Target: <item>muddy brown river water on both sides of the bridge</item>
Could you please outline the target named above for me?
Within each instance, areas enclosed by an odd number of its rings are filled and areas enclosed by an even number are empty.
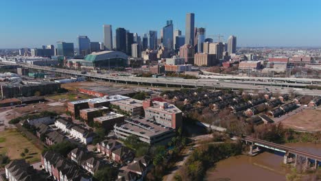
[[[321,144],[288,143],[305,152],[321,155]],[[283,155],[272,152],[263,152],[257,156],[235,156],[217,162],[215,167],[206,173],[209,181],[270,181],[286,180],[285,175],[289,169],[282,167]]]

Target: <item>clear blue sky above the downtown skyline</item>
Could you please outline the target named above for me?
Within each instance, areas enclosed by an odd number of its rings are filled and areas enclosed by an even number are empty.
[[[102,41],[102,25],[143,34],[166,20],[185,32],[185,14],[206,35],[238,46],[321,46],[320,0],[0,0],[0,48],[40,47],[78,35]]]

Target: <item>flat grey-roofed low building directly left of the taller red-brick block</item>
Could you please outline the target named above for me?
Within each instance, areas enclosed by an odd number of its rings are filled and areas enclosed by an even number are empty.
[[[128,112],[131,117],[139,117],[143,114],[143,101],[137,99],[123,99],[110,103],[119,106],[119,109]]]

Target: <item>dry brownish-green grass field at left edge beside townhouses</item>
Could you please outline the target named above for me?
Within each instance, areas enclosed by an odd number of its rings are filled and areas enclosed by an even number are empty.
[[[6,154],[11,160],[21,158],[24,149],[29,149],[25,159],[30,162],[40,161],[41,150],[15,129],[0,132],[0,154]]]

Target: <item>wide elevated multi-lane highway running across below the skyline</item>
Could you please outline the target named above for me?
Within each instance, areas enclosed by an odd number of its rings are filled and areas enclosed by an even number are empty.
[[[8,62],[0,62],[9,64]],[[321,90],[309,90],[305,87],[307,83],[281,83],[281,82],[262,82],[255,80],[219,80],[217,78],[200,78],[198,80],[185,80],[176,77],[154,78],[154,77],[134,77],[134,76],[117,76],[101,73],[82,73],[69,69],[58,69],[51,67],[36,66],[32,64],[19,63],[22,67],[62,73],[66,75],[85,76],[91,79],[119,82],[124,84],[147,84],[151,86],[189,86],[189,87],[212,87],[212,88],[232,88],[243,90],[263,90],[278,93],[298,93],[302,95],[321,95]],[[311,84],[311,83],[310,83]]]

